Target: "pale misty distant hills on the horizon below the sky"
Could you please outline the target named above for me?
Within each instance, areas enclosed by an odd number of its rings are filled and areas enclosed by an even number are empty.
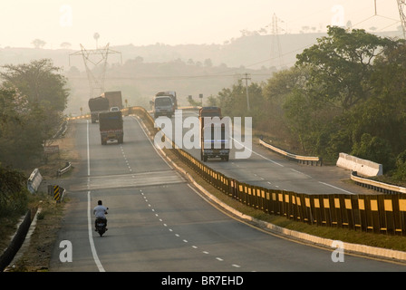
[[[264,82],[276,70],[291,67],[295,56],[325,34],[246,35],[223,44],[179,44],[114,46],[120,52],[109,55],[105,91],[121,90],[130,105],[148,106],[155,92],[174,90],[181,104],[188,104],[192,95],[204,98],[230,87],[243,73],[250,73],[251,82]],[[399,32],[380,34],[396,37]],[[86,49],[92,49],[86,47]],[[68,113],[88,111],[89,82],[82,57],[72,56],[69,49],[0,48],[0,65],[29,63],[50,58],[63,68],[72,93]],[[70,56],[71,55],[71,56]],[[121,63],[122,58],[122,63]]]

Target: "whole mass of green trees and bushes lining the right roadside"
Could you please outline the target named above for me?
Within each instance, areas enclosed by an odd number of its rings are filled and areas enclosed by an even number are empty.
[[[406,179],[406,44],[363,30],[329,27],[266,83],[223,89],[210,104],[253,117],[254,129],[335,161],[340,152],[383,164]]]

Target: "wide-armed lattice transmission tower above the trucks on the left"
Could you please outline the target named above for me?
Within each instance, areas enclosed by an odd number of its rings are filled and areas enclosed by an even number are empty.
[[[119,53],[109,48],[109,43],[103,48],[86,50],[81,44],[81,51],[69,56],[82,55],[90,86],[90,98],[100,96],[104,92],[104,77],[106,74],[107,58],[111,53]],[[121,54],[121,53],[120,53]],[[71,58],[69,58],[71,60]],[[122,58],[121,58],[122,63]]]

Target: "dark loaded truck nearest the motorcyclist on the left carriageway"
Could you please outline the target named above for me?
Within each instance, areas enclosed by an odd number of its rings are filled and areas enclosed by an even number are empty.
[[[99,114],[100,136],[102,145],[107,141],[117,140],[121,144],[124,140],[124,130],[121,111],[103,111]]]

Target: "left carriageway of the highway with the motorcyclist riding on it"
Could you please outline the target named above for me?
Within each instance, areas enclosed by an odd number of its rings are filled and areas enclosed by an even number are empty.
[[[343,262],[333,262],[332,251],[276,237],[232,218],[208,203],[160,157],[134,117],[124,118],[123,144],[102,146],[98,124],[82,120],[72,126],[81,164],[65,180],[69,201],[53,251],[53,272],[406,270],[345,252]],[[255,162],[263,171],[279,168],[272,162]],[[221,166],[237,172],[237,165],[247,163],[230,161]],[[249,172],[244,170],[237,174]],[[285,170],[292,174],[286,179],[302,175]],[[103,237],[94,231],[91,214],[99,199],[110,208],[109,230]],[[60,258],[63,247],[58,246],[63,241],[72,245],[72,262]]]

